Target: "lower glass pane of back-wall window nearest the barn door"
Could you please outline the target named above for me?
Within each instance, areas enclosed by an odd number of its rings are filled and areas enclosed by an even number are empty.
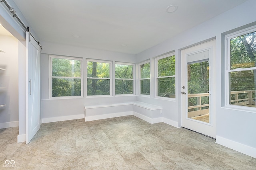
[[[81,96],[80,78],[52,78],[52,97]]]

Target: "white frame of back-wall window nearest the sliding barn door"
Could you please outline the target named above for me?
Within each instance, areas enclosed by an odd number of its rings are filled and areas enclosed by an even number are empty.
[[[68,59],[68,60],[79,60],[80,61],[80,77],[60,77],[60,76],[52,76],[52,59]],[[66,56],[57,56],[57,55],[49,55],[49,98],[50,99],[69,99],[69,98],[83,98],[84,96],[84,85],[83,85],[83,58],[78,57],[66,57]],[[81,79],[81,96],[57,96],[52,97],[52,78],[79,78]]]

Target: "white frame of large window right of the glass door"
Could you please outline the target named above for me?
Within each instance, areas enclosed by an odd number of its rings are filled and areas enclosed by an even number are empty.
[[[229,73],[230,72],[238,72],[238,71],[246,71],[246,70],[256,70],[256,67],[250,67],[250,68],[237,68],[237,69],[231,69],[231,59],[230,59],[230,39],[239,37],[241,35],[245,35],[251,32],[256,31],[256,26],[252,26],[246,29],[242,29],[240,31],[236,31],[234,33],[230,33],[228,35],[225,35],[225,107],[234,109],[234,110],[240,110],[240,111],[249,111],[256,113],[255,107],[245,107],[245,106],[238,106],[238,105],[232,105],[229,104],[230,102],[230,81],[229,81]]]

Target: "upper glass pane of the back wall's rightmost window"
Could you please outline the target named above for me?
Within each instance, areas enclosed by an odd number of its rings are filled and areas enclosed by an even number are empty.
[[[132,65],[116,64],[116,78],[131,78],[132,79]]]

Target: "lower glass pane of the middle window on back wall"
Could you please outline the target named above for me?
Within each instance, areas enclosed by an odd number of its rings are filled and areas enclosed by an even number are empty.
[[[87,95],[110,95],[110,79],[87,79]]]

